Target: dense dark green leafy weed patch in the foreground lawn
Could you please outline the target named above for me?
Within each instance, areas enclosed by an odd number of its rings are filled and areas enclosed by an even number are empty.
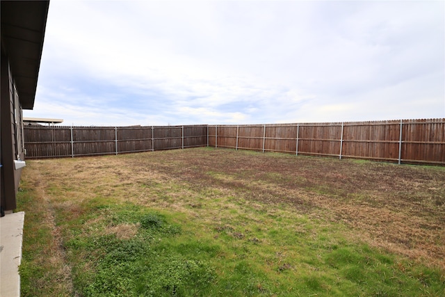
[[[168,227],[161,216],[142,216],[161,230]],[[153,223],[156,222],[156,223]],[[161,222],[159,224],[159,222]],[[142,223],[141,223],[142,225]],[[159,239],[158,237],[159,236]],[[165,237],[167,236],[167,237]],[[216,255],[218,247],[200,246],[190,241],[188,252],[179,253],[183,247],[171,247],[169,234],[157,233],[156,239],[140,234],[133,239],[119,240],[113,234],[100,236],[89,244],[76,247],[95,246],[95,267],[90,273],[84,272],[88,266],[88,256],[84,255],[83,264],[74,269],[76,288],[81,296],[195,296],[208,287],[216,274],[213,268],[202,259],[191,259],[188,255],[199,257],[195,251],[200,249],[205,257]],[[162,241],[161,241],[162,239]],[[166,241],[166,243],[164,243]],[[70,248],[74,247],[70,245]],[[199,247],[199,248],[198,248]],[[79,252],[79,251],[78,251]],[[209,255],[207,253],[209,252]],[[88,254],[88,253],[87,253]]]

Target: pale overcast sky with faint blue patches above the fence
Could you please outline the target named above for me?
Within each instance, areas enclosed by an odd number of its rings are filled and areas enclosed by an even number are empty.
[[[445,118],[445,1],[51,1],[64,125]]]

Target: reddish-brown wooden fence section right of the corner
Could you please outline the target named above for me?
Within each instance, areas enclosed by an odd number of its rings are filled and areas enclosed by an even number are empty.
[[[445,118],[280,125],[211,125],[209,146],[445,165]]]

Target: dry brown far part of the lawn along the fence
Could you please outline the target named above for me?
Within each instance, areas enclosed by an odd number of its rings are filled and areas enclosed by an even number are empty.
[[[194,195],[209,191],[209,199],[233,196],[252,207],[266,204],[267,211],[286,203],[296,216],[346,224],[353,239],[445,269],[444,168],[219,149],[29,164],[40,175],[32,179],[42,191],[55,184],[66,188],[67,196],[48,208],[67,209],[71,216],[81,214],[83,200],[97,196],[197,216],[196,209],[206,202]],[[51,211],[47,216],[53,224]],[[218,220],[217,212],[207,214],[209,223]],[[137,227],[116,225],[109,232],[127,238]],[[54,255],[63,263],[60,251]]]

